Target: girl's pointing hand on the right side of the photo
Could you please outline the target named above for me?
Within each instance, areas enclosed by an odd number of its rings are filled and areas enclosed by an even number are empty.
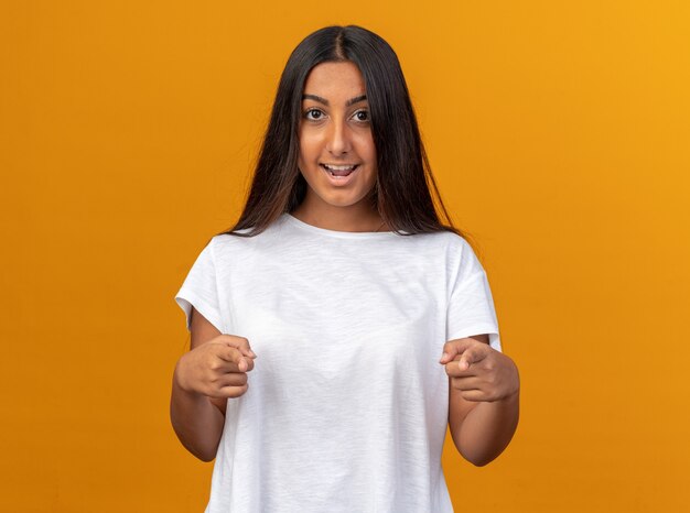
[[[515,362],[473,338],[445,342],[439,363],[445,365],[451,386],[460,390],[461,396],[467,401],[500,401],[520,390]]]

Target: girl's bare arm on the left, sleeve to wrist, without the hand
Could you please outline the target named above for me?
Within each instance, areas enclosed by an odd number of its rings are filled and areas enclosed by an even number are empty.
[[[206,318],[192,308],[192,347],[197,347],[220,335]],[[183,354],[175,365],[170,418],[177,438],[186,449],[203,461],[215,458],[223,435],[227,399],[216,399],[192,391],[186,382],[190,352]]]

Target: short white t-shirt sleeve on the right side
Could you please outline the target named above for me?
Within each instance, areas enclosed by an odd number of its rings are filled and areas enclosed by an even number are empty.
[[[464,239],[460,255],[453,260],[456,272],[449,299],[446,340],[488,334],[490,347],[500,351],[498,320],[484,268]]]

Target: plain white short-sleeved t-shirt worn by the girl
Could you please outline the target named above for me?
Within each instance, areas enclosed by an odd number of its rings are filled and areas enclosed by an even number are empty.
[[[488,334],[486,273],[452,232],[342,232],[283,214],[215,236],[175,296],[257,354],[228,400],[207,513],[452,512],[443,345]]]

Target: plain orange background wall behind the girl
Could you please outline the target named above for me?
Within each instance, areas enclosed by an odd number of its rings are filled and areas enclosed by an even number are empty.
[[[690,511],[690,8],[683,1],[32,1],[0,7],[0,511],[197,512],[173,296],[237,218],[292,48],[398,53],[479,241],[521,422],[457,511]]]

